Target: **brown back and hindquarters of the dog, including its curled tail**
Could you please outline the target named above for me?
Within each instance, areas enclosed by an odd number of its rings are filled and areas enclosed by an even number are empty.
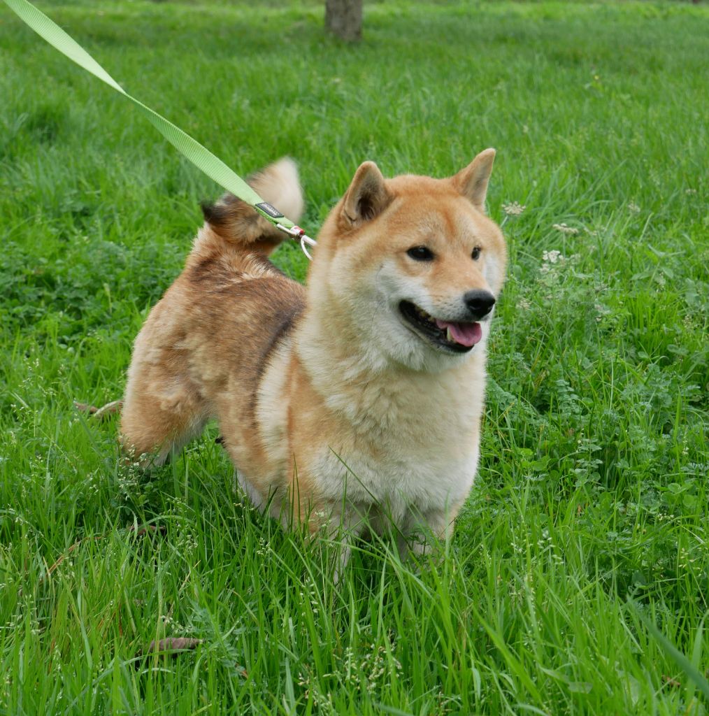
[[[249,183],[297,221],[303,200],[290,160]],[[141,462],[153,454],[162,463],[198,435],[219,412],[220,395],[238,395],[229,412],[248,431],[263,367],[304,307],[302,286],[266,258],[284,234],[232,195],[203,211],[185,269],[135,340],[121,435]],[[238,392],[229,390],[233,382]]]

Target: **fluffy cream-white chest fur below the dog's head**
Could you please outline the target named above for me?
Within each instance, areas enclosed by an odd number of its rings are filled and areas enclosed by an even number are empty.
[[[327,435],[313,470],[321,494],[337,500],[346,490],[348,501],[383,503],[395,518],[465,498],[480,449],[483,356],[439,374],[335,382],[325,400],[339,432]]]

